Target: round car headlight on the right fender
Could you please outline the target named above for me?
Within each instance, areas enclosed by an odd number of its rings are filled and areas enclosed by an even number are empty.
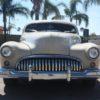
[[[88,50],[88,55],[89,55],[89,57],[92,58],[92,59],[98,58],[98,56],[99,56],[99,49],[98,49],[98,48],[95,48],[95,47],[90,48],[90,49]]]

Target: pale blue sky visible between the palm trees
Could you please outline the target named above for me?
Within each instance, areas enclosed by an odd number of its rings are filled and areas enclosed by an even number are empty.
[[[31,10],[32,3],[30,2],[30,0],[26,0],[26,1],[14,0],[14,2],[20,2],[22,5],[24,5],[25,7],[28,7]],[[51,1],[55,5],[57,5],[57,3],[59,3],[59,2],[65,2],[68,5],[68,2],[69,2],[69,0],[51,0]],[[60,9],[61,14],[64,15],[63,8],[59,7],[59,9]],[[87,28],[90,30],[90,34],[96,33],[97,35],[100,35],[100,32],[99,32],[100,31],[100,13],[99,13],[100,6],[95,6],[95,5],[90,6],[87,12],[82,9],[81,5],[78,5],[77,9],[80,12],[84,12],[89,16],[89,26]],[[48,20],[50,20],[50,19],[48,19]],[[65,18],[64,20],[66,22],[67,21],[69,22],[68,18]],[[12,29],[11,34],[17,34],[17,35],[22,34],[23,27],[31,21],[32,21],[32,19],[30,17],[25,18],[23,16],[16,15],[15,19],[11,20],[11,23],[14,23],[16,26],[15,29]],[[34,21],[34,19],[33,19],[33,21]],[[0,24],[1,24],[0,26],[3,25],[2,15],[0,16]],[[21,31],[19,31],[19,32],[17,31],[18,27],[21,27]],[[81,26],[78,26],[78,29],[80,30],[81,27],[85,27],[84,23],[82,23]],[[80,32],[80,35],[82,35],[81,32]]]

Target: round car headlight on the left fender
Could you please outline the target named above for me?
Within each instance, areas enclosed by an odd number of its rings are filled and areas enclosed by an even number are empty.
[[[1,48],[1,55],[4,57],[9,57],[12,55],[12,50],[8,46],[4,46]]]

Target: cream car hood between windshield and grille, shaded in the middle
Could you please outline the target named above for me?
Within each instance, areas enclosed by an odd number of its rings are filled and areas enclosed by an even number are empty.
[[[24,34],[22,42],[27,44],[32,54],[69,54],[71,38],[76,34],[58,32],[35,32]]]

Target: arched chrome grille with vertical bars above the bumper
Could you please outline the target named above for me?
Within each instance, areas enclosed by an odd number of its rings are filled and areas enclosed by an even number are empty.
[[[59,56],[59,55],[35,55],[21,59],[16,64],[16,70],[28,71],[32,66],[32,71],[82,71],[83,67],[80,60]]]

